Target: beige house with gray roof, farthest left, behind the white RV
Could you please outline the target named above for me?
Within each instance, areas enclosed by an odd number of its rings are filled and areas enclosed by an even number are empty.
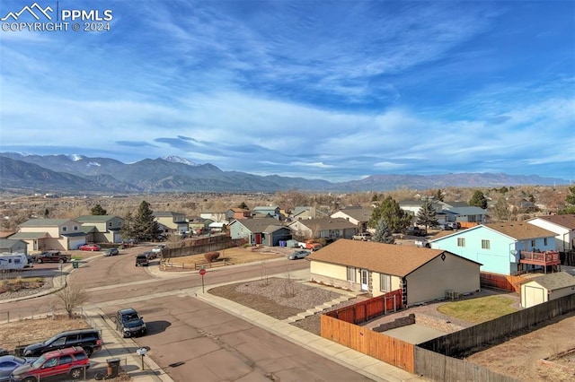
[[[86,242],[86,234],[79,221],[70,219],[30,219],[18,226],[10,239],[27,243],[28,253],[48,249],[76,249]]]

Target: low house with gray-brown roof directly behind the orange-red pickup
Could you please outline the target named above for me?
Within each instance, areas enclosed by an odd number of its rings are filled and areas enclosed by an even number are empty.
[[[306,239],[351,239],[358,231],[354,223],[343,218],[305,219],[293,221],[288,227]]]

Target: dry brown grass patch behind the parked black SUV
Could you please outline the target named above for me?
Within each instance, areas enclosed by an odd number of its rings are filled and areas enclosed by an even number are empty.
[[[39,343],[66,330],[90,327],[84,318],[36,318],[22,319],[2,324],[0,330],[0,348],[12,351],[16,346]]]

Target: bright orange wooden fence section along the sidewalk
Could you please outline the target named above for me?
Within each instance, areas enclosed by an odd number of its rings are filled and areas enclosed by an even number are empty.
[[[321,335],[377,360],[383,360],[410,373],[414,372],[414,346],[411,343],[326,314],[321,316]]]

